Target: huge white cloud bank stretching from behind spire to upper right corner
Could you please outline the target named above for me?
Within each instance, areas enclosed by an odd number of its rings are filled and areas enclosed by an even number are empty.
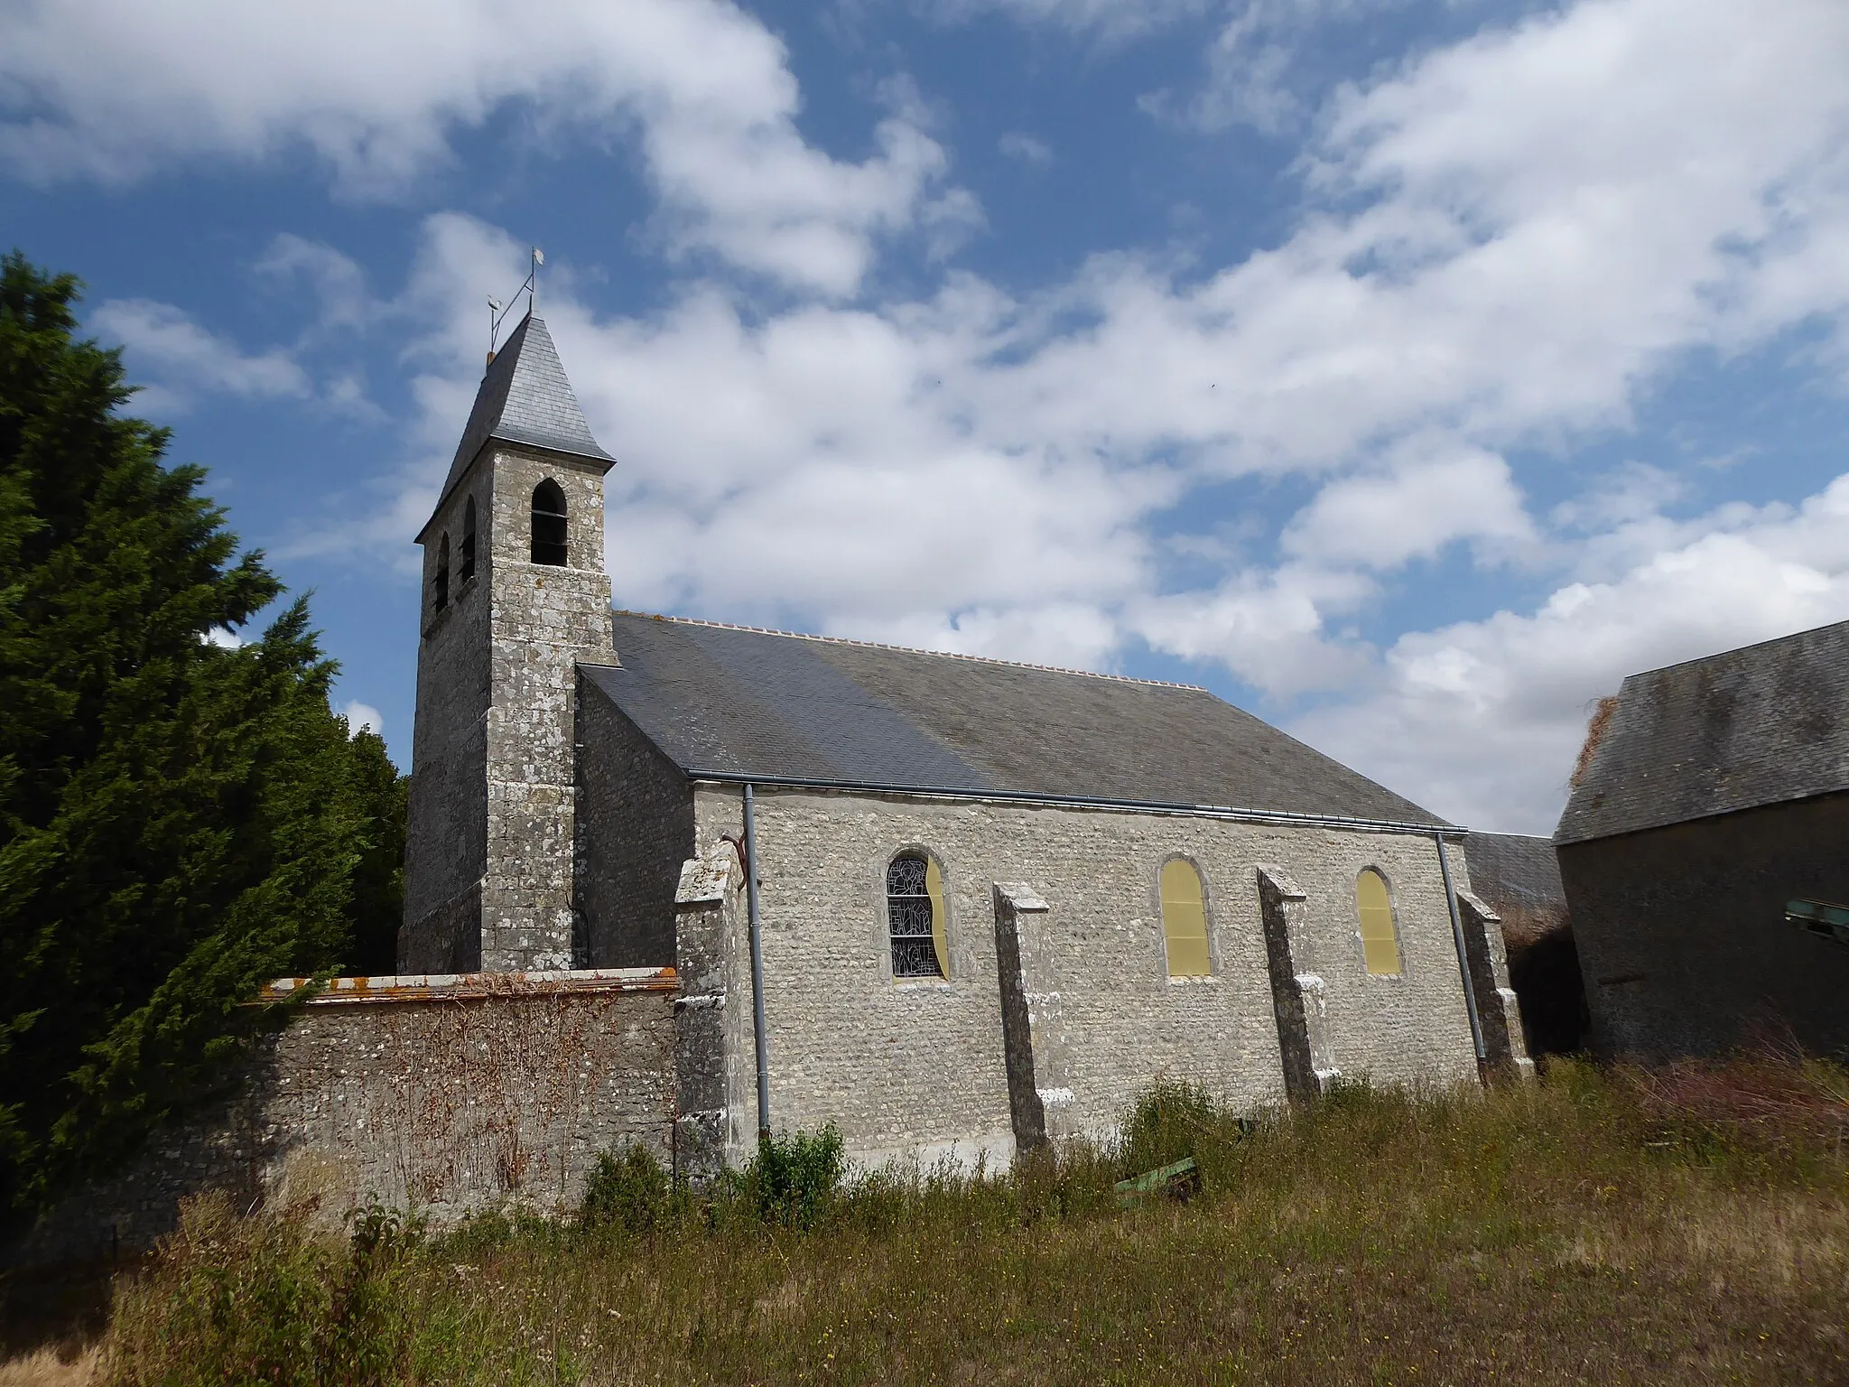
[[[1622,673],[1849,614],[1836,490],[1686,520],[1673,477],[1633,470],[1531,516],[1505,462],[1627,427],[1692,351],[1842,342],[1843,70],[1838,4],[1583,0],[1346,92],[1300,224],[1233,266],[1100,255],[1030,300],[952,272],[767,316],[690,279],[614,320],[564,266],[547,318],[621,459],[618,601],[1095,668],[1145,640],[1342,694],[1298,729],[1440,812],[1544,830]],[[520,253],[460,216],[425,237],[399,300],[429,325],[418,460],[377,507],[398,538],[479,375],[460,305]],[[1261,473],[1318,490],[1217,571],[1170,568],[1213,549],[1191,488]],[[1379,573],[1450,544],[1549,562],[1559,592],[1368,647]]]

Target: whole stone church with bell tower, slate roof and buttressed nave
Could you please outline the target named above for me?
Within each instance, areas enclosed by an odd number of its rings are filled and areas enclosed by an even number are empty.
[[[671,976],[734,1163],[1527,1067],[1463,829],[1202,688],[616,608],[612,466],[527,316],[418,534],[403,975]]]

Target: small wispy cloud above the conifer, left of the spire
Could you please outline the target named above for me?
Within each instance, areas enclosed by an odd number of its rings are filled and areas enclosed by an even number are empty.
[[[246,399],[303,399],[314,392],[307,372],[287,351],[246,355],[172,303],[105,300],[89,325],[128,350],[131,375],[157,381],[137,398],[141,409],[179,411],[198,390]]]

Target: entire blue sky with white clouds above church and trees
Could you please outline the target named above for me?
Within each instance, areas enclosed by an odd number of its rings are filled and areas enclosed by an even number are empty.
[[[1204,682],[1548,832],[1642,668],[1849,618],[1840,0],[0,0],[4,240],[409,762],[542,314],[618,603]]]

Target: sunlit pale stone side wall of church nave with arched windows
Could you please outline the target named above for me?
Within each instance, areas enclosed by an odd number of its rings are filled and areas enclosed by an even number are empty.
[[[703,847],[738,834],[740,792],[697,788],[695,819]],[[1261,864],[1304,891],[1292,965],[1320,984],[1333,1071],[1378,1082],[1477,1074],[1429,838],[791,790],[758,792],[756,836],[773,1124],[834,1121],[858,1160],[1011,1154],[997,882],[1048,904],[1019,927],[1048,1135],[1104,1135],[1157,1074],[1235,1104],[1283,1097]],[[943,871],[947,980],[891,978],[884,882],[904,849],[930,853]],[[1167,976],[1157,873],[1174,854],[1207,886],[1209,978]],[[1403,960],[1394,978],[1363,965],[1355,875],[1368,865],[1392,891]],[[732,914],[741,936],[743,910]],[[732,941],[727,971],[749,988],[743,949]],[[745,991],[727,1008],[727,1030],[747,1028],[730,1065],[734,1160],[756,1126],[749,1006]]]

